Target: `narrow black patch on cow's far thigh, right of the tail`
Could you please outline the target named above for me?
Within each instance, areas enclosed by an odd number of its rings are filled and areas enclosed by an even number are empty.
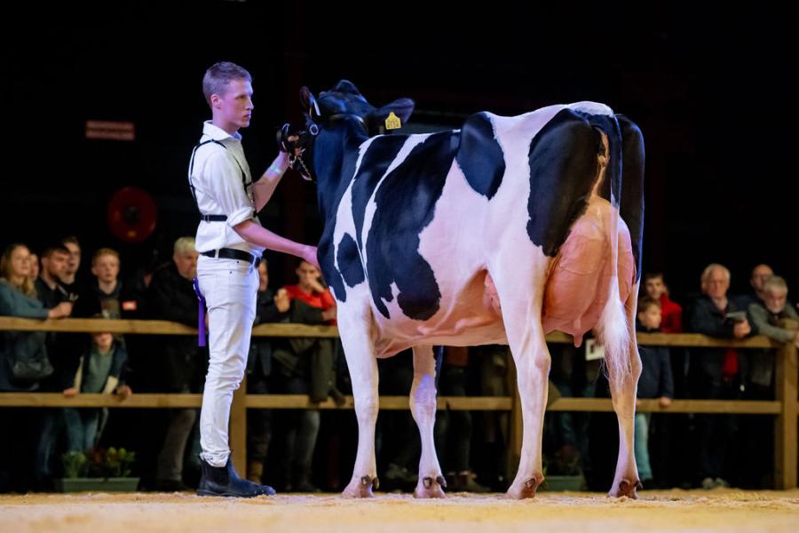
[[[616,115],[621,129],[621,219],[629,228],[629,239],[636,259],[636,281],[641,278],[644,243],[644,135],[624,115]]]

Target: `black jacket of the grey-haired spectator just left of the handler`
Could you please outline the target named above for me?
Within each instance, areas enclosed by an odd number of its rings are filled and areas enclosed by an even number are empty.
[[[174,263],[154,272],[146,292],[146,314],[150,319],[197,327],[200,314],[194,285],[178,273]],[[200,392],[208,355],[197,346],[195,335],[159,336],[152,346],[146,364],[150,370],[146,380],[152,386],[163,392]]]

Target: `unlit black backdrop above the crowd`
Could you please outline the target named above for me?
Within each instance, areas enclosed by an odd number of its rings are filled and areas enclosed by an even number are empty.
[[[494,8],[495,4],[495,8]],[[644,3],[642,3],[644,4]],[[605,102],[646,142],[645,270],[663,270],[677,299],[710,262],[733,290],[771,264],[799,280],[795,249],[795,18],[762,4],[256,2],[33,4],[4,15],[0,245],[34,250],[67,234],[84,262],[123,253],[123,275],[169,259],[193,235],[188,155],[210,118],[205,68],[232,60],[254,78],[243,131],[254,176],[276,155],[275,129],[299,118],[297,91],[350,79],[374,105],[409,97],[412,122],[459,127],[480,110],[518,115],[553,103]],[[136,140],[88,140],[87,120],[130,121]],[[153,195],[145,243],[107,228],[110,196]],[[305,242],[320,223],[315,191],[290,173],[262,221]],[[274,257],[274,256],[273,256]],[[274,257],[274,282],[293,263]],[[85,267],[83,267],[85,269]]]

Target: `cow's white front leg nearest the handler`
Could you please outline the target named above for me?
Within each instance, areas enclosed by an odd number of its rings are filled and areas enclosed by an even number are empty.
[[[375,460],[375,424],[379,409],[375,344],[368,334],[368,329],[364,327],[368,322],[350,322],[341,311],[338,322],[352,379],[355,415],[358,418],[358,453],[355,457],[352,480],[342,495],[373,497],[372,489],[377,489],[379,485]]]

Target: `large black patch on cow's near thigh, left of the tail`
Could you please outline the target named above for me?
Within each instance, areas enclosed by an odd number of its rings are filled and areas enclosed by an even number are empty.
[[[599,132],[580,114],[563,109],[530,143],[527,235],[554,257],[588,205],[597,179]]]

